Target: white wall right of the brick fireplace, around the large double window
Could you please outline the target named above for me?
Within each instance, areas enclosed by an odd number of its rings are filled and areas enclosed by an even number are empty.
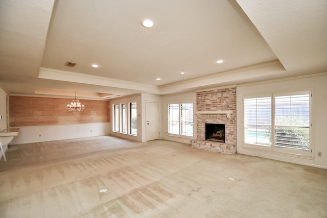
[[[261,93],[313,89],[313,158],[301,158],[242,147],[242,96]],[[327,73],[286,80],[276,80],[237,86],[237,152],[275,160],[327,168]],[[322,152],[318,157],[317,153]]]

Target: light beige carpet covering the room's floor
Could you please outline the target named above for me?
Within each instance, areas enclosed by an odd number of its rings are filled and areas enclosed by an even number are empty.
[[[6,156],[0,217],[327,217],[326,169],[111,136]]]

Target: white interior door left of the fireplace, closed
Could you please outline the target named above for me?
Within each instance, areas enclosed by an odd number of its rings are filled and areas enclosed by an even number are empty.
[[[159,102],[147,102],[146,113],[147,141],[159,139]]]

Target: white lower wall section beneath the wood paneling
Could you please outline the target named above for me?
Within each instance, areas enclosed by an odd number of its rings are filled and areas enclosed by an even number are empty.
[[[20,128],[20,132],[10,144],[109,135],[109,127],[110,123],[17,127]]]

